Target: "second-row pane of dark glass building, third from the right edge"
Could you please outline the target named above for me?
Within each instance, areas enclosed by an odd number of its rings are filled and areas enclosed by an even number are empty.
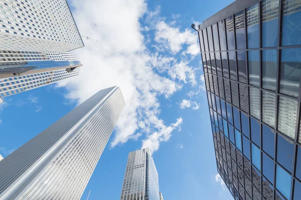
[[[249,83],[259,87],[259,50],[248,51]]]

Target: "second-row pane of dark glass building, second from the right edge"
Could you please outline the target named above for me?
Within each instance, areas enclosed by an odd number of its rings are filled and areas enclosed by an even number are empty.
[[[262,50],[262,87],[276,90],[277,51]]]

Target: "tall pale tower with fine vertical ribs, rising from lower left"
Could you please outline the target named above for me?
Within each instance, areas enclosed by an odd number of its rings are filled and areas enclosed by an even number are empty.
[[[0,161],[0,199],[79,199],[124,104],[102,89]]]

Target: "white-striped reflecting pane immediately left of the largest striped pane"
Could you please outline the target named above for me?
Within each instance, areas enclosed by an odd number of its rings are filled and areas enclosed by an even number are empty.
[[[275,127],[275,94],[262,91],[262,122]]]

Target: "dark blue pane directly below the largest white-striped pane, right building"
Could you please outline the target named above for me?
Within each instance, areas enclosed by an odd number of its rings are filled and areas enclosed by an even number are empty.
[[[289,172],[293,165],[293,142],[277,135],[277,162],[284,166]]]

